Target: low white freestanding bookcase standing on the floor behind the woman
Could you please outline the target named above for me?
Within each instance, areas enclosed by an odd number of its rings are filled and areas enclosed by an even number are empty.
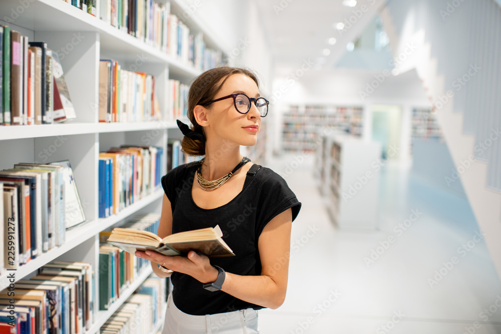
[[[320,147],[316,173],[332,221],[340,229],[377,229],[381,145],[332,135]]]

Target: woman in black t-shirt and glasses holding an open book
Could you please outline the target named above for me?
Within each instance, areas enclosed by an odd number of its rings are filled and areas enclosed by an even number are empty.
[[[282,177],[240,154],[240,145],[256,144],[268,113],[258,85],[248,70],[220,67],[201,74],[189,90],[193,126],[178,122],[181,146],[205,157],[162,177],[158,235],[219,225],[235,256],[136,252],[158,276],[173,271],[163,334],[256,333],[257,310],[284,302],[291,225],[301,203]]]

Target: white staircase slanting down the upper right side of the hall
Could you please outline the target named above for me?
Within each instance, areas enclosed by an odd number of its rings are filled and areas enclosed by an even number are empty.
[[[484,235],[485,243],[497,273],[501,277],[501,192],[493,190],[493,188],[497,188],[496,184],[498,184],[495,182],[496,175],[501,178],[501,168],[498,167],[501,166],[501,150],[498,149],[501,138],[499,138],[499,134],[496,135],[496,131],[501,128],[501,109],[494,108],[490,118],[483,114],[468,114],[469,119],[478,117],[479,124],[476,125],[476,130],[472,134],[465,134],[465,125],[471,128],[469,124],[464,124],[465,113],[476,113],[476,111],[467,110],[464,107],[467,106],[466,103],[459,108],[457,105],[456,108],[454,107],[459,94],[466,94],[466,96],[461,96],[461,98],[464,98],[461,101],[471,99],[474,94],[481,94],[479,95],[480,100],[492,99],[488,101],[494,101],[495,97],[501,94],[501,87],[499,87],[501,81],[497,83],[494,80],[495,78],[492,78],[490,83],[496,84],[484,85],[483,87],[487,88],[488,91],[479,93],[477,86],[482,80],[487,81],[486,76],[483,75],[482,78],[472,78],[470,76],[469,80],[472,81],[472,84],[465,84],[459,90],[448,90],[450,87],[446,87],[446,84],[454,84],[451,80],[455,77],[449,75],[446,80],[444,75],[444,73],[450,74],[455,70],[456,72],[463,71],[462,73],[468,74],[469,69],[464,64],[471,62],[470,65],[474,67],[475,64],[473,63],[477,59],[480,67],[489,64],[483,61],[489,59],[488,57],[491,57],[493,62],[497,61],[499,63],[499,54],[483,56],[481,52],[487,51],[472,50],[473,53],[478,51],[480,54],[471,56],[470,53],[467,60],[461,59],[462,68],[458,70],[459,62],[453,60],[453,57],[463,57],[463,55],[447,54],[443,52],[447,48],[438,45],[439,43],[457,43],[457,40],[452,40],[454,36],[457,39],[464,39],[464,43],[470,45],[471,48],[479,45],[473,42],[475,38],[473,33],[463,34],[465,27],[459,25],[464,26],[465,22],[468,21],[461,20],[461,18],[467,19],[469,17],[472,20],[477,20],[476,22],[470,22],[470,24],[477,25],[474,28],[480,32],[483,27],[481,23],[482,15],[485,14],[486,17],[489,17],[489,27],[501,31],[501,9],[494,0],[475,0],[475,2],[470,2],[471,4],[467,3],[460,3],[459,7],[454,8],[454,11],[449,13],[450,19],[449,16],[440,12],[440,10],[447,8],[447,1],[442,0],[390,0],[382,9],[380,15],[384,29],[390,39],[394,57],[398,57],[408,43],[413,43],[413,46],[416,47],[416,51],[398,68],[400,72],[405,72],[411,68],[416,69],[430,103],[435,106],[433,114],[441,126],[457,174]],[[472,9],[470,6],[479,6],[475,8],[476,16],[468,13]],[[443,15],[445,15],[445,20]],[[453,15],[457,17],[452,18]],[[438,16],[438,19],[433,16]],[[499,17],[499,20],[497,20],[497,17]],[[400,20],[399,24],[396,24],[394,19]],[[440,20],[443,21],[443,25]],[[487,18],[485,20],[487,21]],[[455,29],[456,35],[454,35]],[[492,38],[492,43],[497,43],[495,40],[496,34],[486,35]],[[447,68],[452,66],[456,66],[456,68]],[[493,75],[497,73],[495,68],[489,69],[489,71],[493,71]],[[474,70],[469,73],[474,73]],[[473,79],[476,80],[474,83]],[[497,138],[495,138],[496,136]],[[490,138],[491,144],[489,145],[490,152],[486,154],[487,157],[477,156],[474,158],[475,154],[479,152],[479,150],[475,152],[475,146],[481,142],[489,143],[488,138]],[[451,175],[444,175],[444,178],[453,179],[453,177],[457,177],[457,174],[453,175],[451,172]]]

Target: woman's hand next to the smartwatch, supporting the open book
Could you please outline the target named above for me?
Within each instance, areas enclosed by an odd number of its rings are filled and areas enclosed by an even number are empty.
[[[209,258],[192,250],[189,251],[187,257],[166,256],[152,250],[144,252],[138,250],[134,255],[159,263],[172,271],[190,275],[202,283],[213,282],[217,279],[218,271],[210,264]]]

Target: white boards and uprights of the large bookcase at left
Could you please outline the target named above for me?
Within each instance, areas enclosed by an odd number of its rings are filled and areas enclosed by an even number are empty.
[[[9,18],[9,22],[0,20],[0,25],[10,26],[27,36],[29,41],[45,41],[55,51],[68,51],[68,46],[71,46],[71,51],[63,52],[64,57],[60,59],[77,115],[76,119],[64,124],[0,127],[0,169],[12,168],[18,162],[70,160],[86,216],[85,223],[67,230],[66,242],[62,246],[20,266],[15,271],[15,280],[36,275],[38,268],[56,259],[89,262],[95,271],[96,307],[99,304],[99,232],[120,225],[135,213],[160,212],[163,197],[163,190],[158,187],[118,214],[98,218],[99,152],[123,144],[162,147],[161,175],[164,175],[167,172],[167,142],[181,137],[177,124],[168,117],[169,79],[188,84],[201,73],[189,63],[100,20],[102,1],[97,0],[97,15],[94,17],[63,0],[30,0],[16,18],[11,18],[11,13],[20,6],[19,1],[0,2],[0,18]],[[171,0],[170,12],[178,17],[190,13],[182,0]],[[229,48],[203,24],[199,19],[201,15],[190,13],[183,22],[193,34],[203,33],[208,48],[227,54]],[[115,59],[124,68],[133,68],[134,65],[137,72],[154,75],[161,118],[138,123],[99,123],[100,59]],[[144,270],[108,310],[98,311],[86,334],[99,332],[100,326],[151,271],[151,268]],[[7,276],[7,272],[0,275],[0,290],[11,283]],[[157,328],[160,325],[161,321]]]

